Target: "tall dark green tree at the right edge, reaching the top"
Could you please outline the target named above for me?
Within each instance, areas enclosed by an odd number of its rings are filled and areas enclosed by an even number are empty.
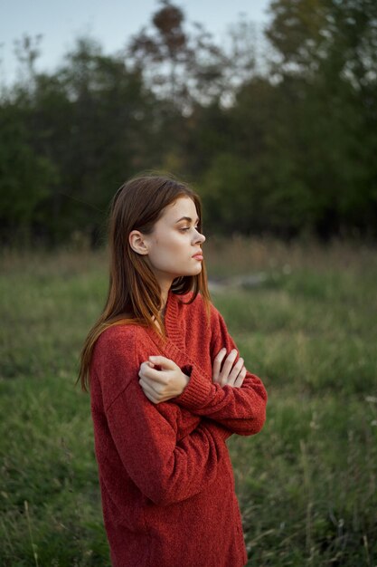
[[[267,35],[280,90],[299,93],[288,110],[290,156],[323,235],[377,220],[377,5],[372,0],[277,0]],[[286,86],[284,86],[286,85]]]

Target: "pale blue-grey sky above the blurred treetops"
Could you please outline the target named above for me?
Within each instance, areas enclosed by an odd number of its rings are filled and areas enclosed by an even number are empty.
[[[200,22],[215,38],[245,16],[258,25],[269,21],[270,0],[173,0],[188,22]],[[158,0],[0,0],[0,79],[17,77],[14,40],[42,34],[38,71],[53,71],[70,51],[75,38],[89,35],[104,53],[116,53],[129,37],[150,22]]]

